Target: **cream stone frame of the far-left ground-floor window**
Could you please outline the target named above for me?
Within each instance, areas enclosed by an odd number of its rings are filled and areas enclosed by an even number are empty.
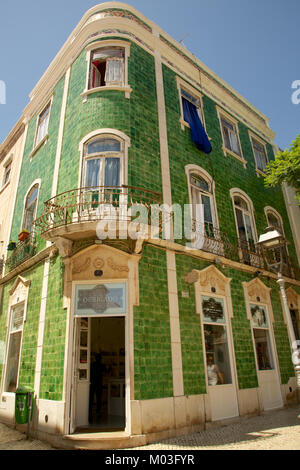
[[[15,392],[6,392],[4,390],[5,382],[6,382],[6,374],[7,374],[7,361],[8,361],[8,352],[10,346],[10,336],[13,334],[11,332],[11,325],[12,325],[12,318],[14,308],[24,305],[24,314],[23,314],[23,324],[22,328],[18,330],[22,332],[22,337],[20,341],[20,356],[19,356],[19,364],[18,364],[18,378],[16,388],[18,387],[19,382],[19,375],[20,375],[20,363],[21,363],[21,355],[22,355],[22,345],[23,345],[23,332],[24,332],[24,325],[26,322],[27,317],[27,304],[28,304],[28,297],[29,297],[29,287],[31,281],[27,280],[21,276],[18,276],[15,280],[12,288],[9,291],[9,303],[8,303],[8,310],[7,310],[7,318],[6,318],[6,347],[5,347],[5,354],[4,354],[4,361],[3,361],[3,374],[2,374],[2,383],[1,383],[1,404],[0,408],[6,408],[6,398],[15,397]],[[16,332],[14,332],[16,333]],[[4,398],[4,400],[3,400]]]

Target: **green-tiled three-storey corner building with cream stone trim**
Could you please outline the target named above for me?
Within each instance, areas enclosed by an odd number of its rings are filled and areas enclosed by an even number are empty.
[[[276,153],[268,119],[111,2],[84,15],[21,120],[16,247],[0,279],[1,421],[14,423],[26,385],[36,436],[117,448],[295,401],[277,277],[256,244],[270,224],[289,241],[296,334],[297,254],[282,191],[262,177]],[[124,235],[122,207],[162,203],[189,205],[195,249],[175,218],[169,237]],[[117,237],[101,240],[109,214]]]

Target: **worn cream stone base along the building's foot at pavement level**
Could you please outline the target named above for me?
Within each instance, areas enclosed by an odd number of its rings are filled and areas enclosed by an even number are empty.
[[[282,385],[285,405],[297,403],[296,379]],[[290,391],[292,390],[292,391]],[[15,425],[14,394],[5,397],[0,406],[0,422],[14,426],[26,433],[26,425]],[[222,421],[211,420],[208,395],[191,395],[151,400],[131,401],[131,435],[123,431],[97,434],[73,434],[64,436],[65,403],[38,400],[31,425],[34,438],[66,449],[130,448],[150,444],[162,439],[178,437],[207,428],[228,424],[240,417],[261,413],[259,389],[238,391],[239,416]]]

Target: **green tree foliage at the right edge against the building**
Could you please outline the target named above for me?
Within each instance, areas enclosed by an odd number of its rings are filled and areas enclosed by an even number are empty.
[[[300,204],[300,134],[288,150],[279,152],[267,166],[265,185],[274,187],[282,183],[296,190],[296,199]]]

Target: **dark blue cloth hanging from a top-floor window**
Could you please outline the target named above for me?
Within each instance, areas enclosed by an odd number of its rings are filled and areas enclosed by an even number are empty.
[[[212,146],[199,118],[196,106],[190,101],[182,98],[183,117],[189,123],[191,128],[192,141],[199,150],[204,153],[210,153]]]

